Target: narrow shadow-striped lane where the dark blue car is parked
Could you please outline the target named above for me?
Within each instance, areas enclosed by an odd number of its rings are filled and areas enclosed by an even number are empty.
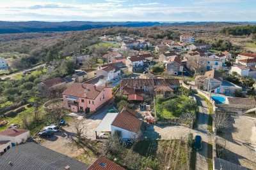
[[[205,170],[208,169],[207,164],[207,143],[212,141],[211,134],[207,129],[208,124],[208,106],[207,103],[199,96],[196,96],[196,101],[198,103],[199,113],[198,113],[198,122],[196,125],[195,131],[197,131],[198,135],[202,136],[202,150],[196,152],[196,169]],[[195,134],[194,134],[195,135]]]

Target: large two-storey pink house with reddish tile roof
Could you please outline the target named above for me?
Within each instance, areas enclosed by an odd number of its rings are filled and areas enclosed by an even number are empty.
[[[63,94],[64,108],[72,112],[96,111],[113,97],[112,87],[73,83]]]

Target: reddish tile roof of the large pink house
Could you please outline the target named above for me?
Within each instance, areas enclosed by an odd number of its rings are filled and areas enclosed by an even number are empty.
[[[67,96],[83,97],[94,100],[97,96],[99,96],[100,92],[102,92],[104,88],[112,88],[97,86],[95,89],[94,86],[95,85],[86,83],[73,83],[62,94]],[[84,97],[84,93],[86,97]]]

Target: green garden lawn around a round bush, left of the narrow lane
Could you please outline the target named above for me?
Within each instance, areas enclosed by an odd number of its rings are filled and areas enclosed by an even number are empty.
[[[175,112],[168,111],[165,108],[163,108],[164,103],[167,101],[164,101],[163,103],[156,103],[156,112],[157,112],[157,117],[162,117],[162,118],[177,118],[180,116],[182,113],[182,103],[186,101],[186,99],[189,99],[188,96],[180,96],[175,98],[175,101],[178,103],[179,109]],[[171,100],[171,99],[170,99]]]

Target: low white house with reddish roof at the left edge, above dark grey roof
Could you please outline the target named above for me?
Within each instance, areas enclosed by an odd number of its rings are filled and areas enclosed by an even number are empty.
[[[0,141],[11,141],[12,146],[25,142],[29,138],[29,131],[24,129],[6,129],[0,132]]]

